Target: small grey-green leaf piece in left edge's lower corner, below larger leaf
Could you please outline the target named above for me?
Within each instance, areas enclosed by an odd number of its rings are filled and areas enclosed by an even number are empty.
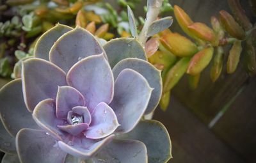
[[[3,151],[4,153],[16,153],[15,137],[10,136],[1,121],[0,131],[0,151]]]

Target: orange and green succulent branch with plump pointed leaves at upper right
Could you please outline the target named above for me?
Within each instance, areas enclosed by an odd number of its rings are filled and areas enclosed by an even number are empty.
[[[160,103],[163,110],[168,107],[172,88],[184,74],[189,75],[189,86],[195,89],[201,72],[212,62],[210,77],[215,82],[223,73],[225,49],[229,45],[231,49],[227,54],[227,73],[233,74],[240,58],[244,57],[248,74],[256,74],[255,26],[246,17],[238,0],[228,0],[228,4],[233,16],[224,10],[220,11],[218,17],[211,17],[212,27],[202,22],[193,22],[182,8],[174,6],[179,26],[192,40],[165,30],[148,42],[148,47],[155,47],[148,52],[148,60],[163,70],[164,86]],[[251,4],[253,9],[255,4]],[[241,56],[243,50],[245,55]]]

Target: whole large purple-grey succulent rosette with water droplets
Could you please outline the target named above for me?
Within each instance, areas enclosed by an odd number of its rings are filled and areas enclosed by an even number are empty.
[[[156,109],[161,74],[135,38],[103,47],[91,33],[56,25],[0,91],[3,162],[166,162]],[[5,129],[5,130],[4,130]],[[17,155],[16,155],[17,153]]]

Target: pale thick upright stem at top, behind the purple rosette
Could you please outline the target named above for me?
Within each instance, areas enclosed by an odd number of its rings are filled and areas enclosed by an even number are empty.
[[[150,27],[152,22],[157,20],[157,16],[160,12],[160,8],[162,4],[163,4],[163,0],[148,0],[148,3],[147,3],[148,12],[147,12],[146,21],[141,30],[140,35],[138,36],[138,40],[143,46],[145,45],[148,39],[148,36],[147,36],[148,27]]]

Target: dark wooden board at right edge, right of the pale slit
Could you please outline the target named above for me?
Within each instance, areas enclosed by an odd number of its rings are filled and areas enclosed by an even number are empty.
[[[248,162],[256,162],[256,77],[248,81],[213,131]]]

